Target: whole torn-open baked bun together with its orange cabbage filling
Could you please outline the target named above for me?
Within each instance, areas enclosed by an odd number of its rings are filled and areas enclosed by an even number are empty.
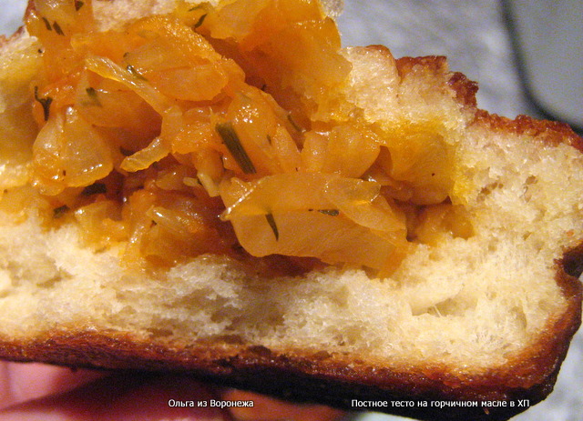
[[[420,419],[551,392],[581,317],[567,125],[341,48],[313,2],[35,3],[0,55],[2,358]]]

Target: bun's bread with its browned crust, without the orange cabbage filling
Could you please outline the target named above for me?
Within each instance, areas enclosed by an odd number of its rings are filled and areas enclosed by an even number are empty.
[[[116,27],[174,6],[94,9],[102,27]],[[344,48],[353,112],[388,133],[430,125],[451,146],[448,200],[471,234],[417,231],[428,239],[382,277],[339,265],[274,275],[216,254],[128,270],[125,244],[87,246],[75,218],[47,229],[11,195],[27,188],[16,175],[26,177],[36,137],[30,52],[39,48],[23,30],[0,55],[2,358],[188,371],[420,419],[507,419],[551,392],[581,318],[583,140],[567,125],[477,109],[476,84],[444,57]]]

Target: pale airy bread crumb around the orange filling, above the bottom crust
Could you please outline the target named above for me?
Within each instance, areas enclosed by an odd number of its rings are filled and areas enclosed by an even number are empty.
[[[137,15],[158,7],[141,4]],[[95,6],[105,14],[108,2]],[[346,96],[369,123],[395,133],[431,125],[451,146],[450,199],[464,207],[471,236],[442,230],[384,278],[338,266],[265,276],[212,255],[152,275],[126,270],[122,246],[85,246],[74,220],[47,231],[34,215],[6,212],[2,336],[19,340],[59,329],[131,332],[152,343],[230,337],[387,366],[432,361],[474,370],[503,366],[536,342],[568,300],[556,282],[557,259],[583,240],[583,155],[568,142],[498,124],[495,116],[478,118],[472,93],[456,87],[443,59],[395,60],[382,47],[345,48],[343,55],[353,65]],[[1,60],[0,71],[17,66]],[[2,85],[2,94],[18,96],[23,77]],[[469,82],[462,85],[471,91]],[[22,115],[20,104],[0,99],[13,108],[2,117],[4,142],[10,137],[4,127]]]

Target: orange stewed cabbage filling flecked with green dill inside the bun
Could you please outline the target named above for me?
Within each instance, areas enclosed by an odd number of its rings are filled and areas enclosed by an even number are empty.
[[[75,219],[128,265],[211,253],[381,275],[437,231],[471,235],[443,139],[389,135],[344,97],[318,2],[181,2],[107,31],[90,0],[35,5],[38,134],[11,200],[33,192],[47,224]]]

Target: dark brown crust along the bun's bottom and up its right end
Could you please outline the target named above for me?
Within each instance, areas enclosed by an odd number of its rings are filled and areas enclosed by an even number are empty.
[[[568,266],[573,256],[568,255],[559,266]],[[288,400],[349,410],[373,409],[424,420],[502,420],[552,391],[568,343],[580,325],[581,284],[562,269],[557,282],[568,296],[568,307],[549,323],[537,343],[507,366],[471,375],[445,365],[375,364],[323,350],[315,354],[274,350],[228,337],[187,344],[89,329],[55,330],[26,343],[2,340],[0,358],[74,367],[189,372],[221,386]],[[355,405],[356,401],[361,406]],[[412,406],[395,406],[397,403]]]

